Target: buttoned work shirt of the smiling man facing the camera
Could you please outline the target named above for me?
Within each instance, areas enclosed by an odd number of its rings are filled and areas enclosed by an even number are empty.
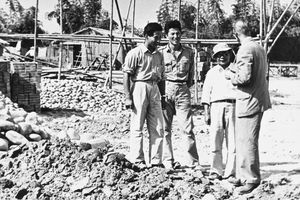
[[[171,81],[192,81],[194,76],[194,53],[186,46],[181,46],[178,55],[171,52],[169,45],[159,49],[164,57],[165,76]]]

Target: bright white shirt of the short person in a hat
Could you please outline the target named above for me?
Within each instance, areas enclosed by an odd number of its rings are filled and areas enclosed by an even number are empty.
[[[225,70],[216,65],[206,75],[201,102],[210,104],[215,101],[236,99],[236,87],[225,78]]]

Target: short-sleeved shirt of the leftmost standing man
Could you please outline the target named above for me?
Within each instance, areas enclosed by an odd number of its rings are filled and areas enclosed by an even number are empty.
[[[141,44],[128,52],[123,72],[131,74],[132,81],[159,81],[164,77],[162,55],[157,50],[151,53]]]

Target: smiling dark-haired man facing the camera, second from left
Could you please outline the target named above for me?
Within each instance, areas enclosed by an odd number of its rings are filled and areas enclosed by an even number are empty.
[[[181,45],[181,24],[177,20],[168,21],[165,25],[165,34],[168,44],[159,50],[164,57],[165,65],[165,109],[163,164],[168,169],[179,166],[174,162],[172,148],[172,123],[176,115],[183,135],[182,150],[184,152],[185,166],[196,167],[199,157],[196,148],[195,135],[193,133],[193,119],[191,110],[191,93],[189,88],[193,84],[194,77],[194,53],[192,49]]]

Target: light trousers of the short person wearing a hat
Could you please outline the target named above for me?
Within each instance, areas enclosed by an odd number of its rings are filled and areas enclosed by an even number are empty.
[[[224,177],[235,176],[236,148],[235,148],[235,104],[216,102],[210,106],[211,125],[211,169],[210,173],[223,175],[223,141],[227,148]]]

